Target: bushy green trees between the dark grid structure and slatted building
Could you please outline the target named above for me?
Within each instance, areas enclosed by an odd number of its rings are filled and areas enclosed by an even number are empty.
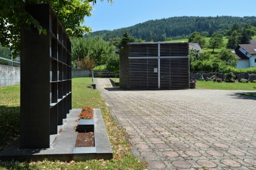
[[[119,56],[109,42],[99,37],[73,37],[72,66],[92,70],[94,66],[106,64],[107,70],[119,72]]]

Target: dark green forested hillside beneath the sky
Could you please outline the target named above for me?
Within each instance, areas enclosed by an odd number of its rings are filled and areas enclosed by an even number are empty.
[[[233,24],[251,24],[256,26],[256,16],[180,16],[172,18],[164,18],[161,20],[149,20],[141,24],[136,24],[128,28],[120,28],[113,31],[99,31],[91,33],[91,36],[98,35],[105,40],[115,37],[122,37],[124,32],[137,39],[145,41],[164,41],[165,39],[181,39],[187,38],[193,32],[204,32],[205,36],[211,36],[217,30],[225,30]]]

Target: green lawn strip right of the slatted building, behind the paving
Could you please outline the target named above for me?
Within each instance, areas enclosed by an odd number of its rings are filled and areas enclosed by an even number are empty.
[[[216,83],[213,81],[197,81],[196,89],[220,89],[256,91],[256,83]]]

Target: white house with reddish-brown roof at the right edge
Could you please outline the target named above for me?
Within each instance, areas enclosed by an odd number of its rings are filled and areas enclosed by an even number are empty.
[[[232,51],[238,57],[236,68],[256,67],[256,45],[240,44]]]

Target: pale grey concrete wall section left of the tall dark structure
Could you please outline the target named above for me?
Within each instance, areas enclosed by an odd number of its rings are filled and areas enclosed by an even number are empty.
[[[20,83],[20,68],[0,65],[0,86]]]

